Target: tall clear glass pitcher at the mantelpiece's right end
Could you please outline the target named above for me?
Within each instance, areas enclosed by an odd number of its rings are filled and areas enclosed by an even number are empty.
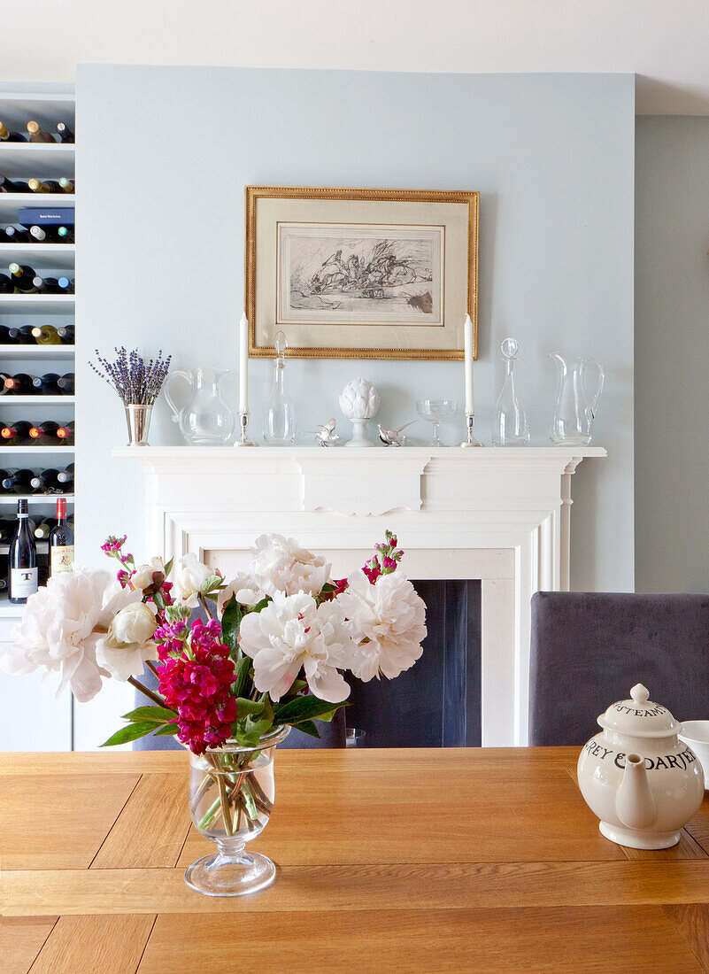
[[[606,373],[594,358],[564,358],[552,352],[557,365],[556,408],[551,418],[549,436],[555,446],[587,446],[593,434],[593,421],[598,400],[603,392]],[[589,389],[586,368],[596,369],[597,378]]]

